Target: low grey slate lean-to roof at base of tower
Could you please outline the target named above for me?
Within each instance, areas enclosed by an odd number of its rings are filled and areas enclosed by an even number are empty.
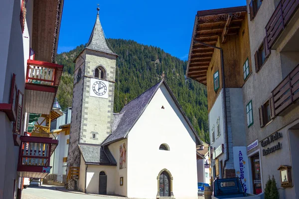
[[[107,146],[92,144],[79,144],[78,146],[84,158],[85,164],[111,166],[117,165]]]

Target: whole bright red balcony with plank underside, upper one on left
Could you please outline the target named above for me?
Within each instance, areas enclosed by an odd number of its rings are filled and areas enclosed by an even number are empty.
[[[25,108],[28,113],[48,115],[52,109],[63,66],[55,63],[27,60]]]

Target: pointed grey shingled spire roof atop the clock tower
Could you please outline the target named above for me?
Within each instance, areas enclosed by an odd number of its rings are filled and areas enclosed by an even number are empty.
[[[107,42],[106,42],[106,39],[104,36],[104,31],[103,31],[103,28],[102,28],[102,25],[100,22],[100,16],[99,16],[100,8],[97,8],[97,10],[98,10],[98,14],[97,14],[96,23],[94,25],[94,28],[90,35],[89,41],[85,48],[90,49],[90,50],[96,50],[99,52],[105,52],[105,53],[112,54],[112,55],[117,55],[107,45]]]

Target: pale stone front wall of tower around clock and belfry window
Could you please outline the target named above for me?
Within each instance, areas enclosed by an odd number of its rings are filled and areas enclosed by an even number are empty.
[[[98,66],[102,66],[106,70],[106,81],[109,82],[108,99],[90,96],[90,80],[95,78],[94,73]],[[115,70],[116,56],[90,50],[86,51],[81,143],[101,144],[111,133]],[[95,134],[95,138],[93,138],[93,134]]]

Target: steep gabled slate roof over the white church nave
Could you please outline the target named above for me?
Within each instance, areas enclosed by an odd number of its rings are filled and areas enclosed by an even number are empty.
[[[152,97],[154,96],[161,84],[164,84],[170,96],[172,97],[175,105],[177,106],[180,113],[183,115],[184,119],[186,120],[192,132],[194,133],[196,137],[196,145],[202,144],[197,132],[194,130],[186,114],[183,112],[181,106],[178,104],[178,101],[174,97],[166,81],[162,79],[159,83],[155,84],[154,86],[149,88],[149,90],[145,91],[140,96],[138,96],[137,98],[135,98],[134,100],[132,100],[124,106],[124,108],[118,114],[117,118],[115,118],[116,120],[113,121],[112,133],[106,138],[106,140],[104,140],[102,145],[109,145],[113,142],[126,138],[126,136],[131,131],[135,123],[138,121],[138,119],[141,117],[141,115],[147,108],[149,102],[151,101]]]

